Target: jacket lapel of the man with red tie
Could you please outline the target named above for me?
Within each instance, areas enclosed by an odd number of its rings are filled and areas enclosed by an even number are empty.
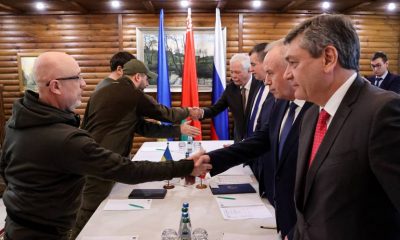
[[[333,146],[336,137],[340,133],[343,125],[346,122],[347,117],[352,111],[351,105],[357,100],[360,90],[362,86],[365,84],[359,76],[356,78],[356,80],[353,82],[353,84],[350,86],[349,90],[347,91],[346,95],[344,96],[341,104],[339,105],[338,110],[335,113],[335,116],[333,117],[331,124],[328,128],[328,131],[325,134],[325,137],[323,141],[321,142],[321,145],[319,146],[319,149],[317,153],[315,154],[313,164],[311,165],[310,169],[308,169],[307,172],[307,177],[306,177],[306,184],[305,184],[305,191],[304,191],[304,205],[307,203],[307,198],[309,196],[309,192],[311,190],[312,184],[314,182],[315,176],[318,173],[318,170],[320,169],[321,165],[324,163],[329,150]],[[319,109],[318,109],[319,112]],[[317,113],[318,114],[318,113]],[[318,116],[318,115],[317,115]],[[314,129],[315,129],[314,124]],[[314,133],[314,129],[312,132]],[[310,147],[312,146],[312,141],[313,141],[313,136],[311,136],[311,144],[309,145],[308,149],[308,154],[305,159],[303,159],[304,162],[307,162],[308,166],[308,158],[310,157]],[[303,156],[304,157],[304,156]],[[304,167],[304,166],[303,166]],[[305,169],[307,169],[306,167]],[[303,175],[304,176],[304,175]]]

